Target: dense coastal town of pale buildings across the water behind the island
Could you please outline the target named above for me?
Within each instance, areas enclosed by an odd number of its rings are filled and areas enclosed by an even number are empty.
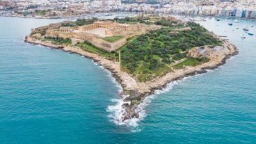
[[[0,15],[35,18],[84,17],[94,13],[159,13],[256,19],[253,0],[1,0]]]

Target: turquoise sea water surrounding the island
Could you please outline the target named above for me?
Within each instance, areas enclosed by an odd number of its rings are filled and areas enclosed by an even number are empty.
[[[63,19],[0,17],[0,143],[256,143],[256,36],[242,30],[256,34],[256,22],[195,19],[239,55],[169,83],[143,102],[141,119],[120,123],[120,86],[108,71],[24,42],[31,28]]]

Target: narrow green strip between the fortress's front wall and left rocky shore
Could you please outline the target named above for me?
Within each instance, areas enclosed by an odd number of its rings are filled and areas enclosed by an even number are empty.
[[[79,42],[75,46],[80,47],[81,49],[88,51],[93,54],[98,54],[99,56],[103,56],[108,58],[109,60],[116,60],[118,61],[118,53],[116,51],[104,51],[103,49],[99,49],[92,45],[90,42]]]

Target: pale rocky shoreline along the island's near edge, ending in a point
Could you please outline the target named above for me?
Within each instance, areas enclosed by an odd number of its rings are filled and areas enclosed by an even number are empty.
[[[30,36],[26,36],[24,42],[28,42],[34,45],[43,45],[54,49],[62,49],[63,51],[79,54],[81,56],[85,56],[86,58],[92,58],[95,63],[102,65],[102,67],[109,70],[116,81],[118,81],[118,83],[122,86],[122,93],[120,93],[120,95],[129,95],[129,97],[125,98],[125,102],[122,105],[125,109],[125,112],[122,113],[122,117],[119,120],[120,122],[125,122],[125,120],[129,120],[131,118],[139,118],[139,112],[136,112],[138,105],[143,102],[145,97],[154,94],[155,90],[162,90],[168,83],[172,81],[193,76],[195,74],[205,73],[207,72],[206,70],[213,70],[219,65],[223,65],[228,58],[238,54],[239,52],[238,49],[234,47],[234,45],[230,44],[230,42],[227,42],[227,40],[223,40],[225,45],[227,45],[228,51],[227,49],[225,49],[226,51],[223,51],[224,56],[220,61],[210,60],[207,63],[202,63],[201,65],[197,65],[195,67],[185,66],[179,70],[173,70],[163,77],[158,77],[152,81],[142,83],[136,81],[136,79],[134,79],[131,74],[120,71],[119,62],[113,62],[97,54],[83,51],[82,49],[79,49],[79,47],[54,45],[51,42],[42,42],[40,40],[36,40],[35,38],[31,38]]]

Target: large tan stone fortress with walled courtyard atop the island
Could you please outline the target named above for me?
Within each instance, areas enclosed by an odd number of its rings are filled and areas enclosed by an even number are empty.
[[[161,26],[147,24],[120,24],[118,22],[100,21],[83,26],[61,26],[61,23],[49,24],[32,30],[33,32],[46,31],[45,37],[71,38],[72,43],[87,41],[106,51],[115,51],[125,45],[127,38],[134,35],[141,35],[153,29],[160,29]],[[106,37],[122,35],[123,38],[115,42],[104,40]]]

